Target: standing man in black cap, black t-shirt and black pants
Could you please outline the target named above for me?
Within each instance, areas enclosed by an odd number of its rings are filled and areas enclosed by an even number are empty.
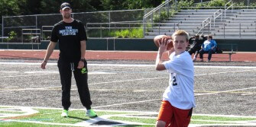
[[[55,24],[51,33],[50,44],[44,57],[41,68],[45,69],[47,60],[53,52],[53,49],[59,42],[60,57],[58,68],[60,72],[60,81],[62,85],[62,105],[63,113],[61,116],[68,117],[70,108],[70,88],[72,71],[76,80],[79,97],[83,106],[86,107],[86,116],[94,117],[96,113],[91,110],[92,101],[88,88],[88,70],[86,55],[86,30],[81,21],[71,17],[72,8],[69,3],[64,2],[60,5],[60,13],[63,20]]]

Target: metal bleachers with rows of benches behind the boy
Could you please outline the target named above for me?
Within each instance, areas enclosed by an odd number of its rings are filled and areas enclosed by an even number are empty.
[[[180,10],[158,27],[147,30],[144,37],[171,35],[177,29],[186,30],[190,36],[211,34],[215,39],[256,39],[256,9],[234,10],[231,5],[225,9]]]

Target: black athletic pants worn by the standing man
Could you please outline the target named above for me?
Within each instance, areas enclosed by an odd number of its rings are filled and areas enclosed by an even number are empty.
[[[68,110],[70,108],[70,88],[71,88],[71,78],[72,71],[74,78],[76,80],[76,87],[78,89],[79,97],[83,106],[86,107],[87,110],[91,109],[92,101],[89,94],[88,88],[88,70],[87,70],[87,62],[85,62],[84,68],[77,68],[78,62],[66,62],[64,60],[59,59],[58,68],[60,71],[60,81],[62,85],[62,106],[64,110]]]

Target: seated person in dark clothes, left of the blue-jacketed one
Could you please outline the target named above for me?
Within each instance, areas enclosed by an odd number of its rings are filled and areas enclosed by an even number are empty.
[[[194,37],[190,37],[190,44],[192,45],[191,49],[188,50],[188,52],[190,53],[190,55],[192,55],[193,53],[195,54],[193,57],[193,62],[196,61],[196,57],[198,55],[199,50],[201,49],[201,46],[203,44],[203,42],[206,40],[206,37],[203,37],[203,39],[199,39],[199,35],[196,34],[196,36]]]

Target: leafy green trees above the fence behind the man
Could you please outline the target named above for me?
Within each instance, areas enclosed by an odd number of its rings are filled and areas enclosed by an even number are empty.
[[[154,8],[164,0],[0,0],[0,16],[57,14],[69,2],[73,12]]]

